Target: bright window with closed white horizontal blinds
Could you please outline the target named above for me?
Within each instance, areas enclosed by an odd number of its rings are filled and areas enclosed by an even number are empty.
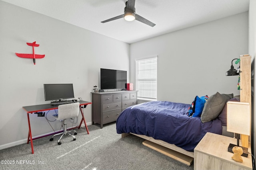
[[[135,61],[138,98],[156,100],[157,56],[136,59]]]

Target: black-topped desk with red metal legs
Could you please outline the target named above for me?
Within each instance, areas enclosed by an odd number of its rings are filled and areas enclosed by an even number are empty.
[[[78,126],[78,129],[80,129],[81,125],[82,125],[82,122],[84,121],[84,125],[86,127],[86,131],[88,134],[89,133],[89,130],[88,130],[88,127],[86,125],[86,121],[85,121],[85,118],[84,118],[84,112],[82,110],[82,106],[84,106],[83,108],[85,108],[88,104],[92,104],[92,102],[86,102],[86,101],[79,101],[80,103],[80,111],[81,111],[81,114],[82,114],[82,120],[80,122],[80,125]],[[27,116],[28,116],[28,141],[27,143],[31,143],[31,150],[32,150],[32,154],[34,154],[34,147],[33,147],[33,138],[32,138],[32,133],[31,133],[31,127],[30,127],[30,120],[29,120],[29,113],[36,113],[36,112],[39,112],[39,111],[46,111],[46,110],[54,110],[54,109],[58,109],[58,105],[51,105],[51,104],[41,104],[41,105],[34,105],[34,106],[23,106],[22,107],[26,112],[27,112]],[[72,128],[71,128],[72,129]],[[56,133],[59,133],[60,131],[56,132]],[[42,138],[42,137],[46,137],[46,136],[50,136],[50,135],[53,135],[53,134],[56,134],[56,133],[52,133],[52,134],[48,134],[48,135],[43,135],[41,137],[36,137],[34,138],[35,139],[39,139],[39,138]]]

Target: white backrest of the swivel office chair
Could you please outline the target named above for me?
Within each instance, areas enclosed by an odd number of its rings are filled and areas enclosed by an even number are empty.
[[[79,102],[72,104],[62,104],[58,106],[58,120],[67,119],[71,117],[78,117]]]

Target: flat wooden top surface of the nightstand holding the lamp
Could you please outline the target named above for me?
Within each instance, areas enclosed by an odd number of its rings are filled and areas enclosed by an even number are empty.
[[[229,162],[231,164],[236,164],[243,168],[252,169],[252,156],[248,154],[248,157],[243,158],[243,162],[236,162],[231,157],[233,153],[228,152],[228,145],[230,143],[236,144],[236,139],[231,137],[226,137],[214,133],[206,133],[203,139],[198,143],[194,152],[201,152],[211,157],[215,157],[224,162]],[[248,152],[251,153],[251,146],[249,143]]]

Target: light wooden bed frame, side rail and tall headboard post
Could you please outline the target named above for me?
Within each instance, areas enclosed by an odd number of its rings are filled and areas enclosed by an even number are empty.
[[[249,55],[240,56],[240,102],[249,103],[251,106],[251,56]],[[194,160],[194,152],[188,152],[174,144],[157,140],[146,135],[122,133],[121,137],[123,138],[130,134],[146,139],[146,141],[142,142],[143,145],[178,160],[188,166],[190,166]],[[241,141],[242,146],[248,148],[248,143],[251,141],[250,136],[241,135]]]

